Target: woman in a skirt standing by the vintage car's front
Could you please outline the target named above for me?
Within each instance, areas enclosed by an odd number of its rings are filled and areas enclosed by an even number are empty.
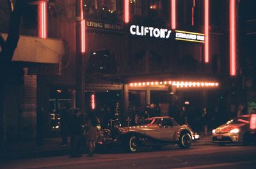
[[[95,149],[95,142],[97,141],[97,117],[94,111],[88,114],[87,128],[88,128],[87,145],[89,150],[89,153],[87,156],[91,157],[93,156],[94,149]]]

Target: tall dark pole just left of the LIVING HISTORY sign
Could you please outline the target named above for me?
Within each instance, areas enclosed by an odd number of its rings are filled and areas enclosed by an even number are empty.
[[[84,99],[84,68],[81,52],[81,24],[83,20],[83,1],[76,0],[76,107],[85,110]]]

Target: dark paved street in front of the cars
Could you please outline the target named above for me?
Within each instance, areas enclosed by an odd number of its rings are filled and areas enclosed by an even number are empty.
[[[256,147],[243,145],[200,145],[181,150],[143,149],[135,154],[95,154],[87,158],[59,156],[4,161],[0,168],[256,168]]]

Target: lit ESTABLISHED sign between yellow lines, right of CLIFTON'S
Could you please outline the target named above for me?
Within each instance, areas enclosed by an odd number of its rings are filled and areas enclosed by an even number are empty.
[[[202,33],[191,33],[187,31],[175,31],[175,40],[195,41],[204,43],[205,36]]]

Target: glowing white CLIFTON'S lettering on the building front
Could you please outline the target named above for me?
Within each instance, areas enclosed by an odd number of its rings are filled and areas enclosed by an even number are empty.
[[[168,29],[159,29],[154,27],[147,26],[135,26],[130,27],[130,33],[138,36],[150,36],[155,38],[170,38],[171,30]]]

